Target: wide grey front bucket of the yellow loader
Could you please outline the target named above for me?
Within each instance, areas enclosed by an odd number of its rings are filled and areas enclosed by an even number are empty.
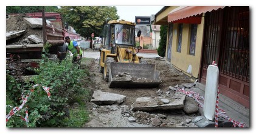
[[[153,88],[161,83],[154,64],[110,63],[108,79],[110,88]]]

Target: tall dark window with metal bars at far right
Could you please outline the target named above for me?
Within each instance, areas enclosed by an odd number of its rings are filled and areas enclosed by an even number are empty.
[[[249,82],[249,7],[230,7],[224,13],[221,73]]]

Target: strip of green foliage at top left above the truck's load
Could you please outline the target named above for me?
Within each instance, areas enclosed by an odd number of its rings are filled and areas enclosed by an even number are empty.
[[[35,13],[42,12],[43,6],[7,6],[6,13]],[[57,12],[57,6],[46,6],[44,12]]]

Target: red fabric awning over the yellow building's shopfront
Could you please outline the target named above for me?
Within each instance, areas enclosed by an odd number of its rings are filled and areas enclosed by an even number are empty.
[[[225,6],[181,6],[168,13],[168,22],[201,24],[202,13],[218,10]]]

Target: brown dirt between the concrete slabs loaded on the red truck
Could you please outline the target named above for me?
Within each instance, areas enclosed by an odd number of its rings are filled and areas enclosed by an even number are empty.
[[[43,39],[43,28],[31,28],[30,25],[24,21],[24,17],[30,18],[25,14],[17,14],[10,15],[9,18],[6,19],[6,33],[26,30],[24,35],[6,41],[7,45],[35,44],[35,42],[28,39],[28,36],[30,35],[35,35],[38,38]]]

